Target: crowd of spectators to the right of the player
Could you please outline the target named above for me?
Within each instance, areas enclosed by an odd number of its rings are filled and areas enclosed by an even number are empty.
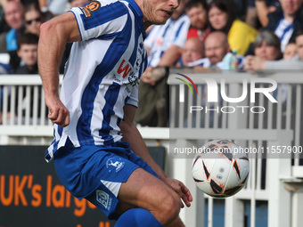
[[[168,126],[168,87],[163,83],[168,70],[163,67],[303,69],[302,2],[185,2],[176,17],[151,28],[145,40],[150,67],[141,79],[136,122]],[[193,42],[195,48],[189,45]]]

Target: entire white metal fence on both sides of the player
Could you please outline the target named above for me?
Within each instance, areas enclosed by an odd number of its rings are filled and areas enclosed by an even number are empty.
[[[225,138],[250,148],[288,146],[299,148],[302,145],[302,85],[300,73],[283,72],[267,74],[278,84],[277,103],[271,103],[261,94],[257,94],[256,104],[250,102],[251,94],[240,103],[228,103],[220,99],[218,102],[203,101],[208,94],[205,78],[214,79],[221,84],[223,74],[220,73],[186,73],[197,85],[198,95],[180,85],[176,74],[171,74],[170,84],[170,130],[168,128],[140,128],[148,145],[161,144],[168,148],[174,144],[188,146],[199,145],[208,140]],[[197,77],[199,75],[199,77]],[[224,74],[225,91],[228,97],[241,97],[243,79],[250,82],[254,78],[264,78],[247,73]],[[258,84],[258,87],[267,85]],[[0,125],[0,144],[49,144],[52,141],[53,127],[46,118],[47,109],[44,103],[44,92],[38,76],[0,76],[0,103],[2,123]],[[286,87],[282,89],[281,87]],[[180,88],[184,88],[184,102],[180,102]],[[285,93],[286,91],[286,93]],[[202,96],[202,94],[204,96]],[[217,104],[217,106],[216,106]],[[254,105],[263,106],[266,112],[256,114],[251,111]],[[189,113],[191,106],[203,107],[201,111]],[[237,106],[245,106],[238,108]],[[210,110],[205,112],[206,107]],[[233,113],[225,112],[236,109]],[[226,108],[228,107],[228,108]],[[218,109],[218,110],[217,110]],[[204,111],[203,111],[204,110]],[[254,109],[258,110],[258,109]],[[243,112],[243,113],[242,113]],[[204,226],[204,199],[192,181],[191,158],[167,158],[168,174],[183,180],[193,193],[192,207],[184,209],[181,217],[186,226]],[[301,190],[303,171],[299,162],[300,154],[292,157],[265,158],[262,153],[250,154],[250,180],[245,189],[230,199],[225,199],[225,226],[242,227],[244,201],[250,201],[250,226],[256,226],[256,203],[258,200],[268,201],[268,226],[297,227],[302,217],[303,196]],[[295,187],[292,187],[295,186]],[[286,190],[285,187],[288,189]],[[213,224],[214,199],[208,199],[208,226]],[[215,211],[216,212],[216,211]]]

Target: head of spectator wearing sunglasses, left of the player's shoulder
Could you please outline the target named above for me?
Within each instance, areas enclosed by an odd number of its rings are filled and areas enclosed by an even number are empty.
[[[40,26],[45,21],[44,14],[38,4],[29,4],[24,9],[26,32],[40,35]]]

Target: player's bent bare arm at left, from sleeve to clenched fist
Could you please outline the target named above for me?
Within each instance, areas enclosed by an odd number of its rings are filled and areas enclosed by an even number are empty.
[[[59,98],[59,65],[66,43],[81,39],[77,21],[72,12],[66,12],[45,22],[40,29],[38,66],[45,89],[45,102],[50,109],[48,117],[53,123],[68,126],[70,113]]]

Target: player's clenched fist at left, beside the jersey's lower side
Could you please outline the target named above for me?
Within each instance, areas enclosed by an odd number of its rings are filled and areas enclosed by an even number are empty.
[[[45,96],[45,102],[50,110],[48,118],[61,127],[70,125],[70,111],[61,102],[58,95]]]

